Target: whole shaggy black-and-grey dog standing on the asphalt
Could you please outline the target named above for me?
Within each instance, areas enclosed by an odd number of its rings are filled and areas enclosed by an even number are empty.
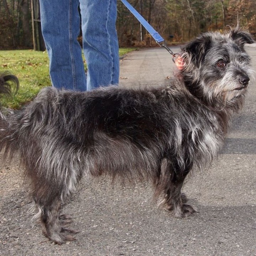
[[[232,114],[244,102],[251,75],[239,29],[204,33],[181,55],[167,86],[88,92],[43,89],[26,108],[0,117],[0,150],[18,153],[43,233],[57,244],[74,240],[62,201],[83,176],[110,174],[153,181],[159,204],[177,217],[196,210],[181,193],[186,175],[223,145]],[[1,76],[0,92],[8,92]]]

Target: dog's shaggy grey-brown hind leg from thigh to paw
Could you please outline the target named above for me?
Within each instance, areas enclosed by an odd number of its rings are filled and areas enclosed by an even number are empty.
[[[71,218],[60,214],[60,210],[63,200],[75,192],[82,167],[79,166],[80,161],[60,154],[57,147],[54,150],[54,146],[49,145],[52,150],[38,149],[35,144],[26,146],[25,149],[33,146],[34,150],[28,152],[30,155],[24,150],[21,157],[26,179],[30,180],[31,196],[39,208],[33,221],[41,224],[47,238],[56,244],[63,244],[75,240],[74,236],[78,233],[68,228]]]

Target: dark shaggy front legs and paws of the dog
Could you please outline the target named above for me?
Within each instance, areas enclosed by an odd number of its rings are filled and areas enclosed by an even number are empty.
[[[176,217],[185,217],[197,212],[194,207],[186,204],[187,197],[181,193],[189,171],[189,165],[181,167],[176,159],[164,158],[161,161],[159,177],[155,181],[155,196],[159,199],[159,206],[173,212]]]

